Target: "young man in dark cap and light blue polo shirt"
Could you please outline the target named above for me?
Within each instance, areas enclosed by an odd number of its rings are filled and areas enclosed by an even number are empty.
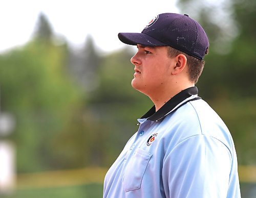
[[[118,37],[137,45],[132,86],[155,106],[106,174],[103,197],[241,197],[232,137],[195,87],[209,47],[200,24],[163,13]]]

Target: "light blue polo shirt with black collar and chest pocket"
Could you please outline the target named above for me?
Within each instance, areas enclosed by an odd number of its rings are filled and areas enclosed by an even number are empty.
[[[241,197],[237,155],[221,118],[191,87],[153,107],[107,172],[106,198]]]

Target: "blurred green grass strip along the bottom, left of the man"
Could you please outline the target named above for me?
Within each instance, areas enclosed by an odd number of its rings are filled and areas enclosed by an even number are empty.
[[[10,195],[1,195],[2,198],[100,198],[103,193],[102,184],[88,184],[81,186],[19,189]]]

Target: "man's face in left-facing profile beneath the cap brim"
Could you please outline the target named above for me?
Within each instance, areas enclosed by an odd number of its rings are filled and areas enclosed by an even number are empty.
[[[134,89],[152,95],[164,90],[164,86],[171,77],[172,59],[167,56],[166,46],[144,46],[137,45],[138,52],[131,58],[135,65],[134,79],[132,86]]]

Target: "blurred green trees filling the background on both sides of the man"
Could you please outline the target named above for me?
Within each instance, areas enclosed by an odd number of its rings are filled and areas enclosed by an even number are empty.
[[[256,165],[256,2],[180,0],[178,7],[200,21],[210,40],[199,94],[230,129],[239,165]],[[108,168],[136,132],[136,119],[153,105],[130,84],[135,49],[102,55],[91,36],[74,49],[54,34],[49,20],[40,14],[33,38],[0,54],[1,110],[16,120],[1,139],[15,144],[18,175]],[[102,192],[101,184],[94,188]],[[242,197],[255,197],[255,185],[241,188]]]

